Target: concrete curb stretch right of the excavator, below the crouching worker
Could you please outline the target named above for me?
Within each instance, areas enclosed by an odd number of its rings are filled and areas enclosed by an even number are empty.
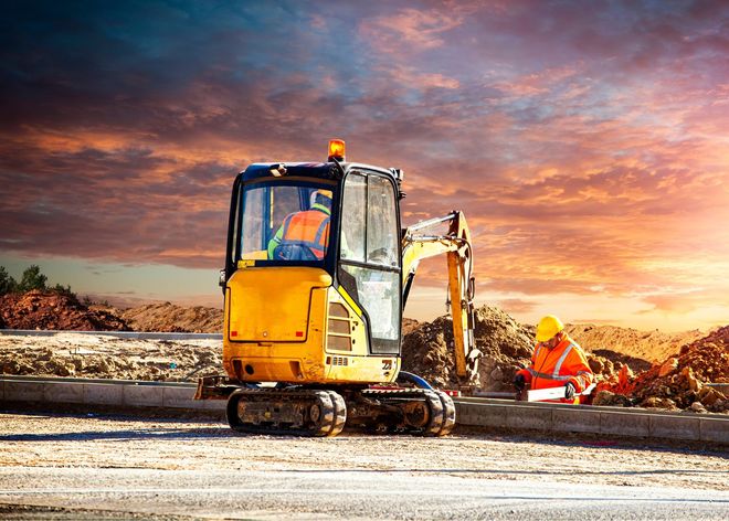
[[[729,416],[456,398],[459,425],[729,444]]]

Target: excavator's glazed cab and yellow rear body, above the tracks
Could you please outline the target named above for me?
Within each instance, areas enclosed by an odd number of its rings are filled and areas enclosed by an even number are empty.
[[[237,177],[222,277],[231,379],[394,380],[399,193],[393,171],[336,158],[252,164]]]

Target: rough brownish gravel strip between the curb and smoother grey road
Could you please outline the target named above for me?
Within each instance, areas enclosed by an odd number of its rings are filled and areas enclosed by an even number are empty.
[[[0,413],[0,468],[73,466],[204,472],[265,471],[274,465],[292,471],[402,471],[405,477],[413,472],[464,472],[484,479],[575,483],[590,479],[626,487],[729,490],[726,454],[651,448],[631,442],[570,443],[545,435],[458,433],[443,438],[348,432],[335,438],[240,436],[222,422],[105,415]]]

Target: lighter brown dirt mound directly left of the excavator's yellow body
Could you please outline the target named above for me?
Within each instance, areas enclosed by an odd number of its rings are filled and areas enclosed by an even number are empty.
[[[125,309],[122,318],[135,331],[220,333],[223,331],[223,310],[170,302],[149,304]]]

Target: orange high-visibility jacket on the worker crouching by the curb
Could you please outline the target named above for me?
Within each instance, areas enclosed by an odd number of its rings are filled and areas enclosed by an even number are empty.
[[[553,349],[538,343],[531,355],[531,365],[521,369],[517,374],[522,374],[529,389],[550,389],[567,385],[571,382],[574,391],[581,393],[592,383],[592,370],[588,365],[588,359],[582,352],[582,348],[569,337],[564,337]],[[574,401],[561,400],[562,403],[579,403],[579,397]]]

